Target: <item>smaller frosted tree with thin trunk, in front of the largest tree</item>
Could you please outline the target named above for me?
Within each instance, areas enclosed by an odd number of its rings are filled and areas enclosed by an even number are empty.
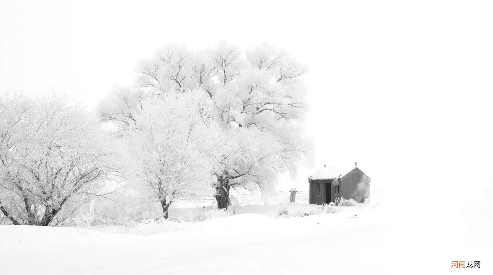
[[[200,90],[151,96],[127,131],[141,191],[161,203],[165,218],[175,198],[203,194],[215,180],[225,146],[210,103]]]

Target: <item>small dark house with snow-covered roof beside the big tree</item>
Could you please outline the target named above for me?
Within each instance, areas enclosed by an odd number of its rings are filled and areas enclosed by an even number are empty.
[[[310,204],[323,205],[336,198],[353,199],[363,203],[370,197],[370,177],[359,168],[325,167],[308,177]]]

